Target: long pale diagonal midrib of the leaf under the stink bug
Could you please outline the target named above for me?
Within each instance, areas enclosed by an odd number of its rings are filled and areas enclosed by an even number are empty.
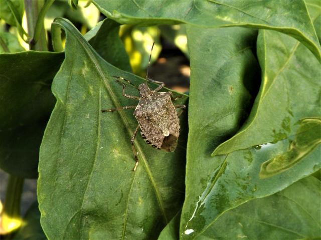
[[[65,26],[65,27],[68,28],[68,26]],[[104,74],[103,74],[103,72],[102,72],[102,70],[101,70],[101,68],[100,68],[99,63],[98,63],[97,61],[95,61],[95,60],[96,60],[95,57],[94,57],[94,56],[92,55],[92,53],[89,51],[89,50],[90,50],[89,46],[84,45],[84,43],[83,43],[80,39],[78,39],[77,36],[76,36],[76,34],[74,34],[72,31],[69,31],[69,33],[71,33],[71,34],[73,34],[73,35],[75,36],[75,39],[77,39],[77,40],[79,41],[79,43],[80,43],[80,44],[82,45],[82,47],[84,48],[85,52],[88,54],[89,59],[90,59],[90,60],[93,62],[93,64],[95,65],[96,70],[97,70],[98,74],[100,75],[100,77],[102,78],[103,83],[104,83],[104,85],[105,85],[105,87],[106,87],[106,89],[107,89],[107,91],[108,91],[108,94],[110,95],[110,98],[111,98],[113,104],[114,104],[117,108],[120,107],[120,105],[119,105],[118,102],[116,101],[115,95],[113,94],[113,92],[112,92],[112,90],[111,90],[108,82],[107,82],[106,79],[105,79],[105,76],[104,76]],[[123,124],[125,125],[128,133],[129,133],[129,135],[131,136],[133,133],[132,133],[130,127],[129,127],[129,123],[128,123],[127,119],[126,119],[126,116],[125,116],[124,112],[123,112],[122,110],[120,110],[120,111],[118,111],[118,113],[119,113],[119,115],[120,115],[121,120],[123,121]],[[163,201],[162,201],[162,199],[161,199],[161,195],[159,194],[159,191],[158,191],[158,189],[157,189],[157,187],[156,187],[156,183],[155,183],[155,181],[154,181],[154,179],[153,179],[153,177],[152,177],[150,168],[149,168],[149,166],[148,166],[148,164],[147,164],[146,157],[145,157],[145,155],[143,154],[143,151],[141,150],[141,147],[140,147],[140,145],[138,144],[137,140],[134,141],[134,145],[135,145],[137,151],[139,152],[138,155],[140,156],[140,158],[142,159],[142,161],[143,161],[143,163],[144,163],[144,165],[145,165],[145,169],[146,169],[146,171],[147,171],[147,175],[148,175],[148,177],[149,177],[149,179],[150,179],[150,181],[151,181],[151,183],[152,183],[152,186],[153,186],[153,188],[154,188],[154,191],[155,191],[155,195],[156,195],[156,198],[157,198],[157,202],[158,202],[158,204],[159,204],[159,208],[161,209],[161,212],[162,212],[162,214],[163,214],[163,217],[164,217],[166,223],[168,223],[168,218],[167,218],[167,215],[166,215],[166,212],[165,212],[164,203],[163,203]],[[136,172],[135,172],[134,174],[136,174]]]

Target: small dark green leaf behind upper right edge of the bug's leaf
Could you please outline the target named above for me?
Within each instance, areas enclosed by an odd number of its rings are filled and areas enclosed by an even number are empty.
[[[129,59],[118,33],[119,24],[111,19],[105,19],[84,37],[104,60],[121,70],[131,72]]]

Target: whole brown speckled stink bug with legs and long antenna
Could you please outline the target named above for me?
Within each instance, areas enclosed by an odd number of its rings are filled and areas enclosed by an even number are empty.
[[[152,44],[152,48],[154,43]],[[148,68],[150,65],[149,55],[147,73],[146,73],[146,83],[140,84],[138,87],[130,83],[128,80],[122,77],[116,77],[116,82],[123,86],[122,95],[126,98],[131,98],[138,100],[137,106],[124,106],[120,108],[113,109],[104,109],[102,112],[113,112],[121,109],[135,109],[134,116],[138,121],[138,125],[130,139],[132,146],[135,166],[133,171],[136,170],[138,165],[138,157],[136,149],[134,147],[134,139],[136,137],[137,131],[140,128],[141,137],[145,140],[146,143],[151,144],[152,147],[157,149],[162,149],[167,152],[173,152],[176,149],[177,141],[180,135],[180,121],[179,115],[176,112],[176,108],[185,109],[185,105],[174,105],[172,100],[175,101],[177,98],[173,98],[171,92],[157,92],[164,87],[163,82],[154,81],[148,79]],[[139,97],[131,96],[125,94],[126,85],[121,81],[126,82],[130,86],[136,88],[139,91]],[[160,84],[154,90],[150,89],[147,85],[147,82],[152,82]]]

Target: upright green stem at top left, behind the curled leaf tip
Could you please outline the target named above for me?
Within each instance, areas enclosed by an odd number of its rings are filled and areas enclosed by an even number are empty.
[[[44,6],[44,0],[25,0],[25,10],[27,17],[27,26],[29,36],[35,36],[35,30],[37,25],[38,16]],[[42,20],[43,21],[43,20]],[[39,26],[40,25],[40,26]],[[30,50],[48,51],[46,31],[43,24],[37,26],[38,41],[35,43],[34,38],[29,42]]]

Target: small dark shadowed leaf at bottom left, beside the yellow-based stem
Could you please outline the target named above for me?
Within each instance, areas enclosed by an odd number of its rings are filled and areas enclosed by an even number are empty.
[[[40,211],[38,202],[34,202],[23,218],[23,224],[13,237],[14,240],[41,240],[47,239],[40,225]]]

